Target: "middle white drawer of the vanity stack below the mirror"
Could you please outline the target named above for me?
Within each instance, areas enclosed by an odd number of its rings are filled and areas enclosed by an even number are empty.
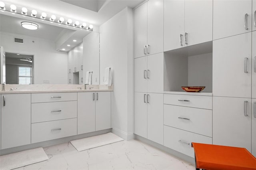
[[[31,123],[56,121],[77,117],[77,101],[31,104]]]

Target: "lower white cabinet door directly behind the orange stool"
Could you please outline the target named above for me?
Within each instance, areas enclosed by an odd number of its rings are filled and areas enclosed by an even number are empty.
[[[251,152],[251,117],[250,98],[213,97],[213,144],[242,147]]]

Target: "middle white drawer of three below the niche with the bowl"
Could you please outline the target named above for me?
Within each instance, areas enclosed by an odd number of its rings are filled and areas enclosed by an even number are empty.
[[[164,125],[212,137],[212,110],[164,105]]]

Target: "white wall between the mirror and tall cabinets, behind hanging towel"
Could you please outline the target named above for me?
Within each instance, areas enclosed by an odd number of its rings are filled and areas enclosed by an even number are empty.
[[[124,8],[100,26],[100,84],[103,84],[105,68],[111,67],[114,85],[112,128],[121,135],[133,132],[132,18],[132,9]]]

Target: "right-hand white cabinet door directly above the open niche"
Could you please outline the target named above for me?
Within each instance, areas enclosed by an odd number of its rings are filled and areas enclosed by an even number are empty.
[[[185,0],[185,43],[212,41],[212,0]]]

